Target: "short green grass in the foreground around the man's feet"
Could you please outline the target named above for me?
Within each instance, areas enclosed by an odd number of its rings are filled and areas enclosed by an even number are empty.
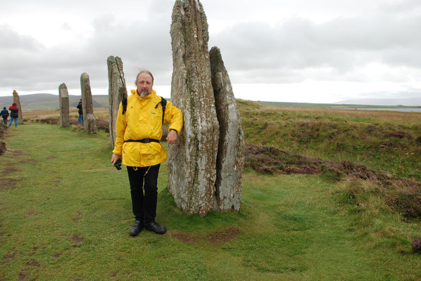
[[[320,176],[246,171],[241,211],[199,218],[177,209],[163,164],[157,221],[168,232],[130,237],[127,173],[111,167],[106,133],[29,123],[5,141],[0,280],[421,278],[410,250],[420,223],[356,209],[346,186]]]

